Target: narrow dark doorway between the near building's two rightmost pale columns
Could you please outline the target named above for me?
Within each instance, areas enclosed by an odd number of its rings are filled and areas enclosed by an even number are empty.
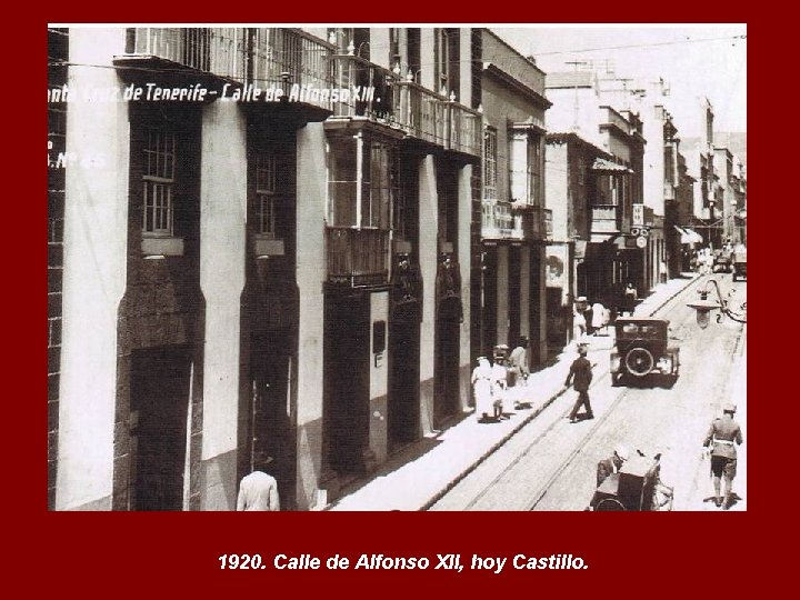
[[[440,427],[458,413],[459,403],[459,358],[460,336],[458,299],[440,303],[436,322],[434,401],[433,421]]]

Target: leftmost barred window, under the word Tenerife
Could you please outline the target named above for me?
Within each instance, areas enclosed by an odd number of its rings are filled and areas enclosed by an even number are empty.
[[[144,146],[142,231],[172,236],[176,134],[163,128],[148,128]]]

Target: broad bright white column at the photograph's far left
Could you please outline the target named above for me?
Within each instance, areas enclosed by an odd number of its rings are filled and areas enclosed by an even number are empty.
[[[122,88],[110,58],[124,29],[70,30],[73,90]],[[78,97],[79,98],[79,97]],[[117,309],[126,289],[130,132],[122,102],[76,98],[67,111],[63,338],[56,509],[110,509],[117,403]]]

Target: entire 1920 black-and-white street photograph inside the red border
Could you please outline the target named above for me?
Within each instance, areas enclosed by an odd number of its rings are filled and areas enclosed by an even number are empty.
[[[747,208],[744,23],[50,23],[47,508],[747,511]]]

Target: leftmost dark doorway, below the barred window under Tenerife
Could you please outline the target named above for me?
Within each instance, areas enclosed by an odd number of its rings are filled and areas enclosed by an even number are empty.
[[[181,510],[191,356],[187,347],[131,357],[131,510]]]

